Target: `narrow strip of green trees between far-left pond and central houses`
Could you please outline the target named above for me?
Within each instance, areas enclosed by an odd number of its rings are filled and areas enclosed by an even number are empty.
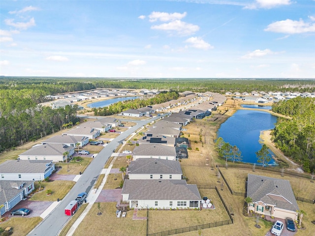
[[[121,113],[128,109],[138,109],[141,107],[152,106],[155,104],[168,102],[170,100],[176,100],[178,98],[179,98],[178,92],[162,91],[158,95],[149,99],[127,100],[127,101],[117,102],[103,108],[94,108],[92,110],[94,111],[95,116],[109,116],[109,115]]]

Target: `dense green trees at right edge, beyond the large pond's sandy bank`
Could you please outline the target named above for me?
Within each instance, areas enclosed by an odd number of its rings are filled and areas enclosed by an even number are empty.
[[[315,98],[296,97],[272,106],[272,111],[292,119],[278,118],[274,142],[286,156],[303,166],[306,172],[315,171]]]

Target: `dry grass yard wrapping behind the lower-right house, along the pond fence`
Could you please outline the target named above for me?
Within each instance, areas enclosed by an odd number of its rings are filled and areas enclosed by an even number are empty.
[[[281,176],[280,173],[270,172],[270,171],[262,171],[262,170],[255,170],[252,172],[252,169],[241,169],[241,168],[221,168],[220,169],[223,176],[227,180],[228,184],[235,192],[242,192],[245,193],[245,181],[246,177],[249,174],[252,175],[259,175],[259,176],[267,176],[279,179],[289,180],[292,186],[293,192],[295,196],[306,198],[306,199],[314,199],[315,193],[315,182],[312,183],[310,179],[302,178],[302,177],[295,177],[285,175],[284,177]]]

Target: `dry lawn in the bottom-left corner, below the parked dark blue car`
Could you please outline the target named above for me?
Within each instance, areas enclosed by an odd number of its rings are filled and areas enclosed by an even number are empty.
[[[35,226],[42,221],[41,217],[11,217],[9,220],[0,223],[0,227],[5,229],[6,227],[13,228],[13,234],[11,236],[26,236]]]

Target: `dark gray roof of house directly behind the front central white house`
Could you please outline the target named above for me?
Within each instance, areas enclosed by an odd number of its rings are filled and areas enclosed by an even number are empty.
[[[129,174],[183,174],[179,161],[157,158],[139,158],[131,161],[128,172]]]

